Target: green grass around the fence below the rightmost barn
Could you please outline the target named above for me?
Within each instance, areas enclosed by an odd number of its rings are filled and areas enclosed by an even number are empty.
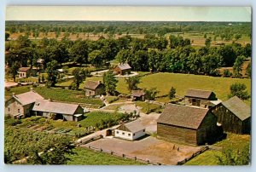
[[[228,133],[225,140],[218,141],[213,144],[213,146],[218,147],[232,147],[234,150],[242,150],[247,143],[250,142],[250,135],[235,135]],[[219,151],[208,150],[201,153],[195,158],[189,160],[189,162],[184,163],[184,165],[218,165],[217,155],[220,155]]]

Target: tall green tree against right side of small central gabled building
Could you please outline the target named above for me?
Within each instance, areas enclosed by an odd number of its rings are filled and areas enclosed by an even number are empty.
[[[103,74],[103,83],[105,84],[106,92],[110,95],[114,95],[118,80],[114,77],[112,71]]]

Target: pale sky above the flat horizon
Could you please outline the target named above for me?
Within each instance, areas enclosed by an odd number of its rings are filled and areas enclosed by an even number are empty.
[[[6,20],[251,21],[250,7],[9,6]]]

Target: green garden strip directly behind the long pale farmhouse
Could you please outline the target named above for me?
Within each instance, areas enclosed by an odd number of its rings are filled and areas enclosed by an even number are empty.
[[[95,106],[102,106],[102,100],[85,98],[84,93],[79,90],[70,90],[70,89],[60,89],[60,88],[46,88],[46,87],[36,87],[33,88],[38,92],[39,95],[42,95],[45,99],[67,101],[67,102],[76,102],[91,104]],[[8,99],[12,93],[19,95],[30,90],[29,86],[15,87],[8,90],[5,90],[5,97]]]

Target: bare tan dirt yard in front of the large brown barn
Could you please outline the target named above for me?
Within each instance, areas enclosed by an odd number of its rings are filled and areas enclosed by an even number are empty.
[[[178,161],[189,158],[200,150],[200,146],[183,146],[148,136],[142,140],[120,140],[104,138],[83,146],[93,146],[104,151],[112,151],[119,155],[125,154],[130,158],[140,158],[154,163],[176,165]],[[178,150],[177,150],[178,149]]]

